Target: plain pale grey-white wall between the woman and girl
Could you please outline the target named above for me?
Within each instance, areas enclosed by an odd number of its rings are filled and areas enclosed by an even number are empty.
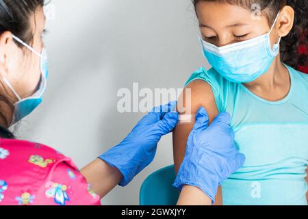
[[[49,88],[18,136],[47,144],[82,168],[118,144],[142,114],[120,114],[120,88],[182,88],[207,65],[198,43],[190,0],[53,0],[47,22]],[[173,163],[172,136],[159,143],[155,161],[104,205],[138,205],[142,181]]]

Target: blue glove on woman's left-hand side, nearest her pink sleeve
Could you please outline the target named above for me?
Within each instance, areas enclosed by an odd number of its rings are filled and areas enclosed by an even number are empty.
[[[120,186],[131,182],[155,157],[157,143],[162,136],[170,133],[178,123],[175,112],[176,101],[155,107],[133,128],[131,133],[117,146],[99,158],[118,168],[123,175]]]

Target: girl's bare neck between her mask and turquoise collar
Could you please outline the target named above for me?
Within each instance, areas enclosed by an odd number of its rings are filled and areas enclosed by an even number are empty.
[[[290,92],[290,73],[277,55],[266,74],[244,86],[263,99],[279,101]]]

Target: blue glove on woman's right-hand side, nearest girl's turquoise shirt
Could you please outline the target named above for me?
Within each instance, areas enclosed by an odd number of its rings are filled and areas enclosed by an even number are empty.
[[[218,186],[245,162],[245,156],[236,149],[235,133],[229,124],[230,115],[221,113],[209,126],[205,108],[198,110],[174,183],[178,190],[184,185],[196,186],[215,202]]]

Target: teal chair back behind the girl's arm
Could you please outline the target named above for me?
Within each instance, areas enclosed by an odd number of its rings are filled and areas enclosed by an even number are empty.
[[[157,170],[142,183],[140,205],[176,205],[179,192],[172,187],[175,182],[175,166]]]

